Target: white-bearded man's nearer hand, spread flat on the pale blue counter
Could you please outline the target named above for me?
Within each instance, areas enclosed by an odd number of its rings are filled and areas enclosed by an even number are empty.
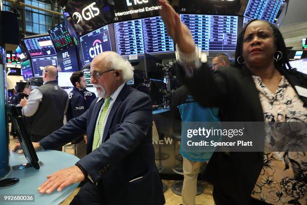
[[[48,180],[37,189],[40,193],[51,193],[55,189],[61,191],[70,184],[83,181],[85,176],[79,167],[72,166],[54,172],[47,178]]]

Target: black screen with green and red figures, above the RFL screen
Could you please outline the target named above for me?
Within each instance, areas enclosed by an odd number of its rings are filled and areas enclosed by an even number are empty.
[[[64,22],[49,31],[53,45],[57,51],[73,45],[73,41],[65,27]]]

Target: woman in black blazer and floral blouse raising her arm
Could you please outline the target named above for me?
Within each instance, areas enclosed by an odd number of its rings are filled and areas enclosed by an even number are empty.
[[[225,122],[307,122],[307,77],[289,65],[276,27],[249,22],[238,37],[236,68],[212,75],[188,27],[167,1],[159,3],[185,84],[201,105],[219,107]],[[306,152],[215,152],[204,175],[218,205],[305,204],[306,170]]]

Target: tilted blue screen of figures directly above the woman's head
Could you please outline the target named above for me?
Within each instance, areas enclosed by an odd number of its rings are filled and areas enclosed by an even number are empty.
[[[249,0],[244,16],[274,23],[283,0]]]

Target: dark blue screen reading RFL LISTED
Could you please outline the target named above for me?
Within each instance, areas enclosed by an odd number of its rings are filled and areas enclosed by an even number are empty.
[[[62,72],[71,72],[79,70],[79,63],[76,53],[76,47],[71,46],[57,52],[58,66]]]

